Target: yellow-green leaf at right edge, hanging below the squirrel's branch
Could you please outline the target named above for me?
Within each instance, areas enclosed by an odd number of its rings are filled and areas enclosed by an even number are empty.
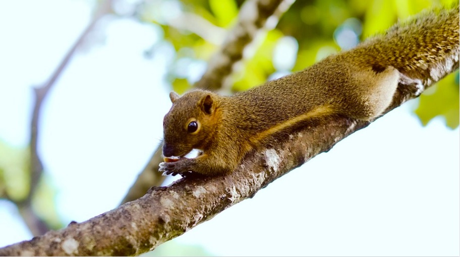
[[[420,96],[415,113],[423,125],[428,124],[434,117],[442,116],[446,125],[455,129],[459,123],[458,71],[433,87],[434,92],[429,90]]]

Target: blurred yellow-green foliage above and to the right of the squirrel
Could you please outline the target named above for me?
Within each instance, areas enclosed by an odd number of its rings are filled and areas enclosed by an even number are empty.
[[[231,76],[232,91],[247,90],[264,83],[267,79],[277,78],[286,71],[278,71],[273,63],[274,49],[284,37],[297,40],[297,58],[293,67],[287,72],[296,72],[311,66],[325,56],[341,49],[353,47],[359,41],[381,33],[398,20],[404,20],[419,13],[423,9],[450,5],[452,0],[303,0],[296,1],[281,17],[275,29],[259,33],[254,42],[245,50],[245,59],[235,66]],[[171,22],[168,14],[162,13],[161,6],[176,6],[178,13],[174,15],[194,14],[206,20],[210,26],[229,29],[235,24],[238,9],[243,1],[235,0],[154,0],[146,2],[141,19],[161,25],[164,40],[168,41],[177,51],[171,63],[168,79],[172,89],[183,93],[191,88],[204,72],[195,69],[198,64],[206,61],[218,49],[218,45],[198,36],[197,32],[178,28]],[[175,3],[175,4],[171,4]],[[202,28],[196,28],[200,31]],[[350,37],[350,31],[354,37]],[[347,33],[342,33],[347,32]],[[348,40],[348,42],[344,41]],[[187,51],[182,51],[182,49]],[[184,55],[184,53],[187,55]],[[188,58],[187,65],[183,59]],[[178,69],[178,67],[180,69]],[[176,68],[176,69],[174,69]],[[446,119],[449,127],[458,126],[458,81],[444,80],[436,87],[433,95],[420,99],[420,108],[416,114],[423,124],[438,115]],[[447,91],[447,89],[449,89]],[[452,93],[453,95],[449,95]],[[440,94],[437,96],[437,94]],[[443,95],[441,95],[443,94]],[[444,101],[440,101],[444,99]],[[430,106],[428,108],[427,106]],[[457,117],[457,118],[455,118]]]

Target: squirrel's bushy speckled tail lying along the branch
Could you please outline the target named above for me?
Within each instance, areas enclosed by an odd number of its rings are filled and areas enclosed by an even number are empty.
[[[459,4],[421,12],[356,48],[366,61],[410,78],[438,81],[458,68]]]

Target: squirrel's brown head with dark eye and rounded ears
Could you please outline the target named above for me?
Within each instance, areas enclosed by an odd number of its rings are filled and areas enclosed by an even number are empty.
[[[203,150],[215,131],[216,94],[191,91],[180,97],[169,93],[172,107],[163,119],[163,156],[183,157],[193,149]],[[166,159],[165,159],[166,160]]]

